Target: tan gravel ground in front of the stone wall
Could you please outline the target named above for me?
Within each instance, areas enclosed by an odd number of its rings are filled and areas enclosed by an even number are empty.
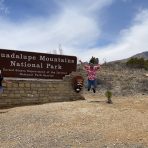
[[[148,96],[0,110],[0,148],[148,148]]]

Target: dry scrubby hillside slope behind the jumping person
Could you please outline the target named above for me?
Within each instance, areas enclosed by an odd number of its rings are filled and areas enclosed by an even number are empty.
[[[101,71],[97,73],[97,91],[104,94],[106,90],[111,90],[115,96],[128,96],[136,94],[148,94],[148,71],[144,69],[130,69],[123,63],[108,63],[101,66]],[[87,87],[87,75],[79,68],[80,73],[85,78]],[[85,89],[86,90],[86,89]]]

